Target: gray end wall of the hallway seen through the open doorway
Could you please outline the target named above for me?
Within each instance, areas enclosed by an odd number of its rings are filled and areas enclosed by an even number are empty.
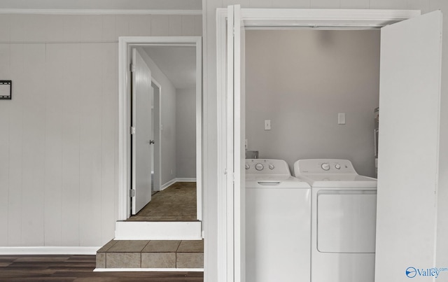
[[[178,89],[176,98],[176,176],[196,178],[196,89]]]

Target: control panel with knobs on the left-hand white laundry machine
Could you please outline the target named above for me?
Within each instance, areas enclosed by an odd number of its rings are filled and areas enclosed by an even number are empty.
[[[290,176],[284,160],[246,159],[246,174],[284,174]]]

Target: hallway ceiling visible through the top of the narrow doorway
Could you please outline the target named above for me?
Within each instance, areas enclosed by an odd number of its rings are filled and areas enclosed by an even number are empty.
[[[196,86],[195,46],[148,46],[144,50],[174,87]]]

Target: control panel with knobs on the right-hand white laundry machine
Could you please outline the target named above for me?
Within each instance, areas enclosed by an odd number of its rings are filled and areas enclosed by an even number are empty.
[[[297,174],[356,174],[353,164],[349,160],[339,159],[311,159],[298,160],[294,164]]]

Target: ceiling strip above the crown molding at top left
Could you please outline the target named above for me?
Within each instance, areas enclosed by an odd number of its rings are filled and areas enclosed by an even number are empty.
[[[202,0],[0,0],[0,9],[202,10]]]

